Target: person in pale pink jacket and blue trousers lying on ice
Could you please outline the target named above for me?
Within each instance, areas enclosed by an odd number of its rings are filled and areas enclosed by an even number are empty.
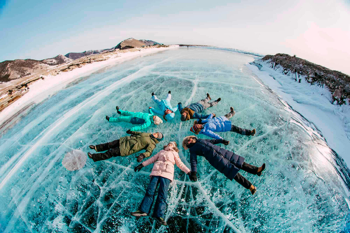
[[[151,174],[151,181],[146,189],[146,194],[142,200],[140,207],[137,211],[131,212],[132,216],[147,216],[151,211],[151,207],[154,201],[154,194],[157,186],[159,185],[158,196],[155,201],[152,217],[162,225],[167,225],[164,219],[164,212],[166,208],[166,201],[168,197],[168,188],[170,182],[174,179],[174,164],[178,166],[186,174],[190,174],[186,165],[184,165],[179,158],[179,149],[177,149],[176,142],[169,142],[165,145],[163,150],[159,151],[152,158],[144,161],[140,165],[134,168],[134,171],[140,171],[142,167],[154,163]]]

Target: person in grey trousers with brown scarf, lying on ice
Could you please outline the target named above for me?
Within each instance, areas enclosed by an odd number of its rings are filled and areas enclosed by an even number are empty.
[[[217,100],[210,103],[209,103],[209,100],[211,100],[211,98],[210,98],[210,95],[207,93],[207,98],[202,99],[197,103],[190,104],[184,108],[182,108],[181,102],[177,104],[179,107],[179,111],[181,112],[181,118],[180,118],[181,121],[188,121],[189,119],[196,119],[196,118],[205,119],[209,117],[209,115],[201,115],[198,113],[203,112],[208,107],[217,105],[221,100],[221,98],[218,98]]]

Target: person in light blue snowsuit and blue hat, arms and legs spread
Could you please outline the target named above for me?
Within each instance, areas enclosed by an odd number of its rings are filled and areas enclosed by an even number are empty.
[[[154,92],[152,92],[152,99],[156,104],[158,104],[158,107],[160,108],[160,110],[156,110],[153,107],[149,107],[155,114],[163,116],[164,120],[166,121],[174,119],[175,112],[179,108],[177,106],[173,108],[170,104],[170,99],[172,99],[171,91],[168,92],[167,98],[162,100],[158,99],[157,96],[154,95]]]

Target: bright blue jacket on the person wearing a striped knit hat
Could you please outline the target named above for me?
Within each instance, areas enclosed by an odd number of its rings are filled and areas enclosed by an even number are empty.
[[[199,132],[200,134],[207,135],[208,137],[212,137],[215,139],[222,139],[221,136],[214,132],[227,132],[231,130],[232,122],[229,121],[226,117],[214,117],[211,113],[209,117],[205,120],[202,120],[203,125],[202,130]],[[199,119],[198,119],[199,120]]]

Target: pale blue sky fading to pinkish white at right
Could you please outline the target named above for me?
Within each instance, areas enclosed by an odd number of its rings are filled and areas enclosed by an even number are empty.
[[[4,1],[0,61],[111,48],[121,40],[288,53],[350,74],[350,1]]]

